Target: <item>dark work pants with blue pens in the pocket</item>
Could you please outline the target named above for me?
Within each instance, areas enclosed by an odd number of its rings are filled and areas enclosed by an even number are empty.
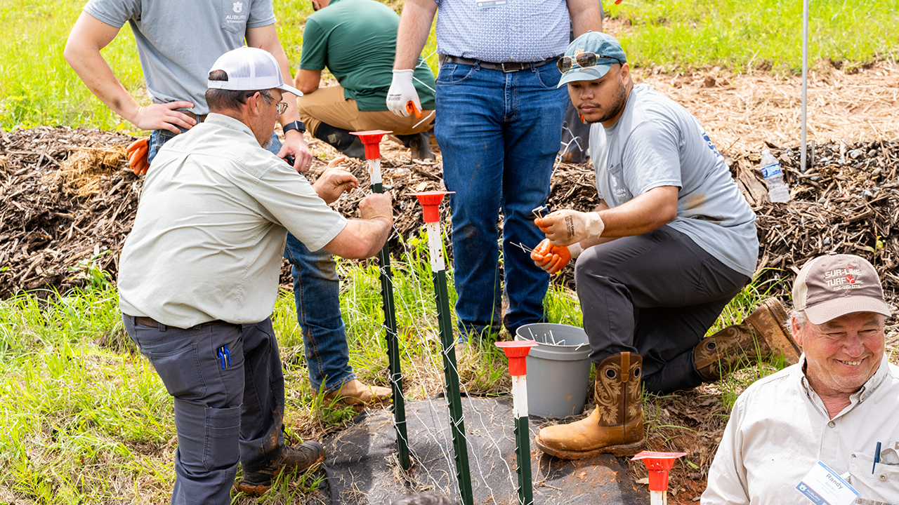
[[[229,505],[238,460],[259,468],[283,446],[284,376],[271,319],[187,330],[122,320],[174,397],[172,503]]]

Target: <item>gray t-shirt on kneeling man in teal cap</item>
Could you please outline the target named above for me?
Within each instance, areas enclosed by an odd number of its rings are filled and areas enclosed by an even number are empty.
[[[759,258],[755,213],[690,112],[648,84],[634,86],[612,128],[590,128],[600,198],[610,208],[659,186],[677,186],[672,228],[752,277]]]

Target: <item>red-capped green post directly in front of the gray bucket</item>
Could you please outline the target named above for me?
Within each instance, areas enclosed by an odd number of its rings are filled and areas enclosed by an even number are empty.
[[[505,352],[512,376],[512,415],[515,416],[515,459],[518,462],[518,502],[532,505],[530,476],[530,431],[528,428],[528,353],[535,341],[501,341],[494,345]]]

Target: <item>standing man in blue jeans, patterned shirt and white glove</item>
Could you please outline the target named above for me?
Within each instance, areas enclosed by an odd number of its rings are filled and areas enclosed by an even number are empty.
[[[499,332],[502,292],[509,308],[502,324],[514,332],[543,321],[549,277],[518,244],[543,236],[531,210],[546,204],[568,101],[556,89],[556,58],[574,34],[601,30],[595,0],[407,0],[396,40],[387,107],[408,116],[418,106],[413,67],[437,16],[434,135],[443,155],[443,178],[452,208],[453,266],[462,338]],[[571,23],[569,24],[569,19]],[[420,108],[420,106],[418,106]]]

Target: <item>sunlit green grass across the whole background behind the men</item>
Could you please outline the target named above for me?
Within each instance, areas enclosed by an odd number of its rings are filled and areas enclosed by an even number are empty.
[[[402,9],[401,3],[387,2]],[[0,3],[0,128],[87,126],[135,133],[87,91],[62,51],[84,0],[3,0]],[[734,71],[801,68],[802,3],[761,0],[625,0],[605,3],[607,14],[628,26],[621,36],[634,66],[677,71],[723,66]],[[278,33],[296,72],[302,27],[312,13],[306,0],[274,3]],[[844,60],[848,67],[895,58],[899,0],[816,1],[811,4],[810,60]],[[424,50],[437,70],[433,28]],[[360,49],[364,50],[364,49]],[[120,81],[147,103],[134,37],[126,26],[103,50]]]

